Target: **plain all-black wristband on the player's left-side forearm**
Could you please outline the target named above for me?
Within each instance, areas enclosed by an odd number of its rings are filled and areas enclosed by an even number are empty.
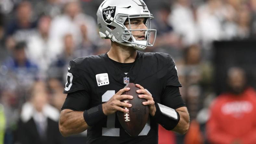
[[[94,126],[106,115],[103,113],[102,104],[92,107],[83,112],[83,118],[88,126]]]

